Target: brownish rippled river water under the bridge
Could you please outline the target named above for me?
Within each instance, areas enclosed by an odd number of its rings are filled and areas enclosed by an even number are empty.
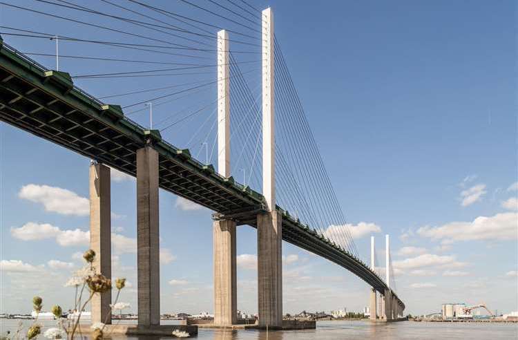
[[[5,334],[7,330],[14,331],[22,320],[0,319],[0,332]],[[115,323],[117,321],[113,321]],[[31,320],[22,321],[25,330]],[[39,321],[45,327],[54,327],[55,321]],[[162,321],[162,324],[176,323],[175,321]],[[500,340],[518,339],[518,323],[427,323],[403,321],[398,323],[376,323],[368,321],[319,321],[316,330],[293,330],[267,332],[258,330],[209,330],[200,328],[198,337],[202,340],[365,340],[365,339],[470,339],[470,340]],[[39,339],[44,339],[39,336]],[[171,337],[124,337],[117,336],[119,340],[159,340],[174,339]]]

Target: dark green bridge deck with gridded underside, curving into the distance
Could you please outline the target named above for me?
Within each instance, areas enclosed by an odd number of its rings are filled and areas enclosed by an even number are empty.
[[[99,102],[74,86],[68,73],[44,68],[1,37],[0,44],[0,120],[131,176],[137,149],[152,143],[159,153],[162,189],[215,211],[215,218],[256,227],[256,214],[265,207],[260,193],[223,178],[188,150],[162,140],[158,131],[128,119],[120,106]],[[344,267],[384,294],[387,285],[363,261],[277,209],[283,240]]]

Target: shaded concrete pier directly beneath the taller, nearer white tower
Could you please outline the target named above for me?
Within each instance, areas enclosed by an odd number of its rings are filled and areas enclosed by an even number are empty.
[[[282,328],[282,216],[257,216],[258,314],[260,328]]]

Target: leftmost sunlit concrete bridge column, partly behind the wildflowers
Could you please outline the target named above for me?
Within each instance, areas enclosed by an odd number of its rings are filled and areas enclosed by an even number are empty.
[[[110,168],[90,164],[90,249],[95,252],[97,272],[111,278]],[[111,290],[92,298],[92,322],[111,323]]]

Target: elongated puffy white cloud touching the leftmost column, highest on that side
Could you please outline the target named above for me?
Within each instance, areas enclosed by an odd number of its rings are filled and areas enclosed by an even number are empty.
[[[30,184],[21,187],[18,196],[31,202],[41,203],[46,211],[77,216],[90,214],[88,199],[67,189]]]

